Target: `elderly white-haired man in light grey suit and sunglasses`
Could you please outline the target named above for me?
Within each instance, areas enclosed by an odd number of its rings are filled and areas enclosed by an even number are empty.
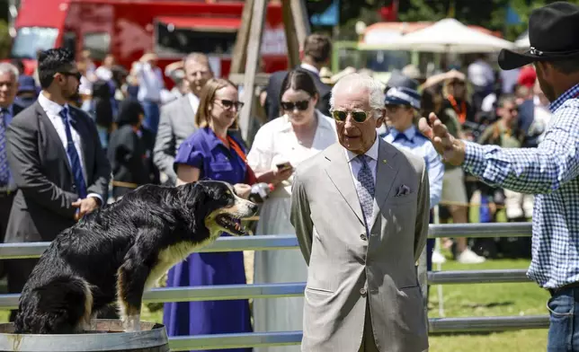
[[[339,144],[300,164],[291,223],[307,261],[307,352],[420,352],[428,348],[415,262],[428,232],[423,158],[376,133],[380,84],[343,77],[330,104]]]

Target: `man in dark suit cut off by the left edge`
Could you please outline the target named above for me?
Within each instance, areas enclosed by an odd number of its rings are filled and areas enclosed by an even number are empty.
[[[18,92],[18,67],[0,63],[0,242],[4,242],[16,184],[6,156],[6,128],[22,107],[14,103]],[[4,277],[4,260],[0,260],[0,277]]]

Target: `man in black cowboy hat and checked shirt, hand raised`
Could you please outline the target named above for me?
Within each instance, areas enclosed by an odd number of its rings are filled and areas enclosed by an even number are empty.
[[[566,2],[534,10],[530,49],[503,50],[505,70],[534,64],[541,90],[551,101],[551,126],[537,148],[477,145],[450,136],[431,113],[420,128],[439,154],[480,180],[536,195],[532,260],[527,275],[548,289],[551,315],[548,351],[578,350],[579,324],[579,6]],[[569,341],[570,345],[569,345]],[[571,348],[570,346],[575,346]]]

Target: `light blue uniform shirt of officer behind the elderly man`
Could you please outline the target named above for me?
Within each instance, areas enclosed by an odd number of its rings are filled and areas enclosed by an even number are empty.
[[[438,205],[441,201],[444,164],[442,163],[441,156],[436,153],[431,141],[420,134],[414,125],[402,133],[397,131],[396,128],[387,128],[386,133],[380,136],[383,137],[387,143],[396,146],[396,148],[405,149],[414,155],[424,158],[431,190],[431,209]]]

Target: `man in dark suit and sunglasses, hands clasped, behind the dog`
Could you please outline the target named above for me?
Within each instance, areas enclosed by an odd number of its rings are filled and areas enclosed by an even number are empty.
[[[49,242],[106,202],[111,165],[94,122],[67,104],[78,92],[75,57],[41,52],[42,92],[7,129],[7,156],[18,186],[5,242]],[[38,260],[8,262],[8,291],[20,293]],[[11,320],[14,312],[11,314]]]

